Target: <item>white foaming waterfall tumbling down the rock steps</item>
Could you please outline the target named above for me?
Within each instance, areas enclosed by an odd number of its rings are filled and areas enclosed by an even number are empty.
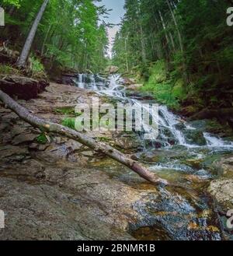
[[[96,78],[100,81],[98,86],[96,84]],[[99,75],[79,74],[76,84],[79,88],[92,89],[99,95],[113,97],[121,103],[134,104],[141,107],[144,111],[148,111],[148,113],[150,113],[149,108],[145,107],[141,100],[135,100],[126,96],[125,87],[121,85],[121,82],[120,75],[111,75],[109,79],[103,79]],[[180,129],[179,126],[183,126],[186,131],[194,131],[196,128],[193,128],[191,124],[188,124],[178,115],[173,114],[166,106],[160,105],[158,108],[158,113],[158,117],[154,116],[152,118],[158,123],[159,135],[158,131],[155,131],[155,129],[151,128],[151,126],[148,126],[148,124],[144,122],[142,123],[144,134],[148,135],[149,140],[152,142],[159,142],[162,146],[173,146],[176,144],[186,146],[187,148],[200,147],[193,143],[187,142],[186,135],[184,134],[183,129]],[[168,133],[174,139],[174,143],[169,141]],[[225,142],[223,139],[219,139],[207,132],[203,133],[203,138],[206,140],[207,147],[233,148],[233,142]]]

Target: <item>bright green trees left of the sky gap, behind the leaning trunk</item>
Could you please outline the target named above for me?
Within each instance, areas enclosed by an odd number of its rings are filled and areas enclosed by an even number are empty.
[[[48,72],[55,68],[99,72],[106,66],[106,24],[99,19],[106,9],[97,7],[96,2],[99,1],[48,2],[32,47],[31,57],[37,69],[43,64]],[[22,50],[42,3],[42,0],[1,1],[6,26],[1,29],[0,37],[8,41],[8,47]]]

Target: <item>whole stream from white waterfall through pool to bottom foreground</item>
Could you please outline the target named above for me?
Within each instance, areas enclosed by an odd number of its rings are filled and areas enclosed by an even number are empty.
[[[143,104],[143,98],[136,100],[127,96],[127,90],[121,85],[120,75],[111,75],[109,79],[99,75],[78,75],[76,84],[78,87],[91,89],[100,96],[113,98],[120,103],[135,104],[150,111]],[[158,136],[157,131],[145,123],[142,124],[144,133],[149,135],[151,142],[141,139],[141,144],[146,146],[136,156],[151,171],[176,183],[178,188],[158,188],[159,193],[155,190],[145,202],[137,202],[135,208],[141,209],[141,223],[130,227],[133,235],[139,240],[141,237],[143,240],[151,237],[155,240],[221,240],[218,216],[210,198],[204,192],[213,178],[205,162],[221,157],[224,153],[232,153],[233,142],[201,132],[163,105],[159,106],[158,114],[152,116],[159,125]],[[195,133],[201,142],[190,139]],[[123,182],[132,175],[129,170],[115,167],[103,160],[102,162],[106,172],[111,172],[113,177]],[[140,182],[138,180],[139,188]]]

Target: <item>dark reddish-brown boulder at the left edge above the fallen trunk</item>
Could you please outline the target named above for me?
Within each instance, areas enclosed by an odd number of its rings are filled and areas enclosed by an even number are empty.
[[[37,81],[19,75],[0,75],[0,89],[9,96],[17,96],[23,100],[37,98],[48,85],[49,82],[46,79]]]

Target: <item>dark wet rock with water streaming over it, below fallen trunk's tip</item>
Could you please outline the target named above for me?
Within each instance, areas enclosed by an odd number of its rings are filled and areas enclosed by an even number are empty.
[[[130,226],[132,234],[136,233],[137,238],[154,236],[154,240],[160,237],[165,240],[221,240],[217,216],[213,212],[207,215],[207,211],[196,214],[195,196],[187,198],[188,193],[180,197],[175,191],[165,189],[147,195],[144,202],[136,203],[141,221]],[[148,226],[151,230],[146,228]]]

